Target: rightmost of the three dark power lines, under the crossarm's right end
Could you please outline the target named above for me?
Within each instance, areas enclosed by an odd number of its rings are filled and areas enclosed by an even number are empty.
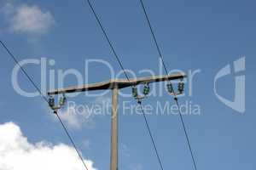
[[[154,38],[154,44],[155,44],[155,46],[156,46],[156,48],[157,48],[157,51],[158,51],[159,56],[160,56],[160,59],[161,59],[162,64],[163,64],[163,66],[164,66],[164,68],[165,68],[166,74],[168,75],[168,71],[167,71],[167,69],[166,69],[165,60],[164,60],[164,58],[163,58],[163,55],[161,54],[160,46],[159,46],[159,44],[158,44],[158,42],[157,42],[157,40],[156,40],[156,37],[155,37],[155,35],[154,35],[154,30],[153,30],[152,25],[151,25],[151,23],[150,23],[150,20],[149,20],[149,17],[148,17],[148,13],[147,13],[147,10],[146,10],[146,8],[145,8],[145,6],[144,6],[143,0],[140,0],[140,3],[141,3],[141,6],[142,6],[142,8],[143,8],[143,13],[145,14],[145,17],[146,17],[146,19],[147,19],[147,23],[148,23],[148,27],[149,27],[149,29],[150,29],[151,35],[152,35],[152,37]],[[171,83],[172,83],[172,82],[171,82]],[[179,111],[179,117],[180,117],[180,120],[181,120],[182,125],[183,125],[183,131],[184,131],[184,133],[185,133],[185,136],[186,136],[186,139],[187,139],[187,143],[188,143],[188,145],[189,145],[189,152],[190,152],[190,155],[191,155],[191,158],[192,158],[192,161],[193,161],[195,170],[197,170],[197,166],[196,166],[196,163],[195,163],[195,156],[194,156],[193,150],[192,150],[192,148],[191,148],[190,140],[189,140],[189,134],[188,134],[187,129],[186,129],[186,127],[185,127],[185,124],[184,124],[184,121],[183,121],[183,116],[182,116],[181,111],[180,111],[180,106],[179,106],[179,104],[178,104],[177,95],[176,95],[175,93],[174,93],[174,100],[176,101],[176,104],[177,104],[177,107],[178,107],[178,111]]]

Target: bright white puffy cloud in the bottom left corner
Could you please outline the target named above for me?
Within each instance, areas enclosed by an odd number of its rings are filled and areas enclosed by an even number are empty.
[[[93,161],[84,160],[89,170]],[[76,152],[67,144],[31,144],[13,122],[0,125],[1,170],[84,170]]]

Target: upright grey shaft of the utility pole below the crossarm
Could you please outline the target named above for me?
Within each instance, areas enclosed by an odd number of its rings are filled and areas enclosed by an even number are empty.
[[[112,116],[111,116],[111,160],[110,170],[118,170],[118,98],[119,88],[115,87],[112,90]]]

